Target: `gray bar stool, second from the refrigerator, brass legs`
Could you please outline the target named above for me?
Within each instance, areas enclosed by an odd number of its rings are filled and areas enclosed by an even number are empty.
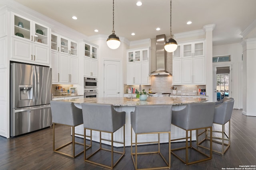
[[[96,164],[99,166],[103,166],[105,168],[113,169],[114,166],[119,162],[119,160],[125,154],[125,111],[118,112],[114,109],[112,104],[94,104],[94,103],[83,103],[82,104],[82,111],[83,111],[83,119],[84,119],[84,134],[86,134],[86,129],[90,129],[93,131],[100,132],[100,147],[98,150],[90,154],[90,156],[86,157],[86,150],[84,150],[84,160],[86,162],[90,162],[92,164]],[[123,142],[121,141],[114,141],[113,134],[118,129],[123,127]],[[103,139],[102,132],[110,133],[111,139]],[[111,142],[111,149],[106,149],[102,147],[102,141]],[[120,143],[123,145],[123,151],[119,152],[114,150],[113,143]],[[110,151],[111,155],[111,163],[110,166],[99,163],[93,160],[89,160],[90,157],[93,157],[100,150]],[[121,156],[118,160],[114,163],[114,153],[120,154]]]

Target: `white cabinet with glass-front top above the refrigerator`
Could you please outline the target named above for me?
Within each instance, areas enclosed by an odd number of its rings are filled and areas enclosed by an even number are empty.
[[[50,64],[49,27],[14,13],[11,21],[12,60]]]

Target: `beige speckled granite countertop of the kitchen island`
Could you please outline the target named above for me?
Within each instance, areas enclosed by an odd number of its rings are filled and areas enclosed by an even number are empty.
[[[171,104],[171,105],[183,105],[189,103],[206,102],[209,99],[207,97],[188,97],[188,96],[173,96],[173,97],[149,97],[145,101],[140,101],[138,98],[78,98],[64,100],[66,102],[74,102],[74,104],[88,103],[100,103],[100,104],[113,104],[114,106],[136,106],[146,104]]]

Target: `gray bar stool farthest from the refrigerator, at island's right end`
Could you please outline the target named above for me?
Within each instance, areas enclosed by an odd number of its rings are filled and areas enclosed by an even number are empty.
[[[212,150],[212,151],[216,152],[216,153],[219,153],[219,154],[222,154],[222,155],[230,147],[230,119],[231,119],[233,106],[234,106],[234,99],[233,98],[226,98],[226,99],[229,99],[229,100],[225,100],[224,102],[222,102],[222,104],[216,106],[215,111],[214,111],[213,123],[218,124],[218,125],[222,125],[222,131],[212,130],[212,132],[214,132],[213,135],[212,135],[212,138],[213,138],[212,142],[222,145],[221,151],[219,151],[219,150]],[[226,123],[228,123],[228,125],[229,125],[228,126],[228,135],[225,132]],[[218,133],[221,133],[221,137],[217,136]],[[224,135],[226,137],[224,137]],[[198,142],[198,146],[207,149],[207,147],[204,147],[203,145],[200,145],[205,140],[209,140],[208,133],[207,133],[207,136],[206,136],[205,139]],[[225,141],[228,141],[228,143],[225,142]],[[226,146],[226,148],[225,148],[225,146]]]

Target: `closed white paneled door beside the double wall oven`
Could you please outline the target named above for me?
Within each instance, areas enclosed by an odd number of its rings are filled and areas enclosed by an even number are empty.
[[[104,98],[121,97],[120,61],[104,60]]]

